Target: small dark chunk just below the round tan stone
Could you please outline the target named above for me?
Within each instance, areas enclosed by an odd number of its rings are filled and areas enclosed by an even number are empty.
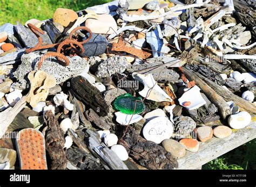
[[[58,28],[50,20],[45,21],[45,24],[41,27],[42,30],[48,33],[53,44],[55,44],[59,37],[62,35],[62,33],[59,32]]]

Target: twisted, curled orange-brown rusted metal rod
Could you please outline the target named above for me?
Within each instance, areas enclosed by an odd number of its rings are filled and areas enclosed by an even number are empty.
[[[57,47],[57,52],[48,52],[46,53],[45,55],[43,55],[41,57],[41,59],[39,60],[39,63],[38,63],[38,70],[41,68],[42,66],[42,63],[43,61],[48,58],[48,57],[57,57],[57,59],[59,61],[62,61],[64,60],[64,66],[69,66],[69,59],[64,55],[64,46],[70,46],[69,48],[67,48],[66,50],[69,50],[69,49],[73,49],[73,51],[79,55],[79,54],[83,54],[85,52],[84,48],[83,48],[83,44],[86,43],[87,41],[89,41],[91,38],[92,38],[92,32],[90,30],[90,28],[87,28],[85,26],[79,26],[79,27],[76,27],[74,28],[70,35],[69,35],[69,38],[68,39],[65,39],[63,40],[62,42],[60,43],[57,43],[57,44],[49,44],[49,45],[42,45],[43,44],[43,39],[41,38],[41,36],[38,34],[44,34],[44,32],[37,28],[35,25],[32,25],[32,24],[28,24],[28,27],[30,28],[30,30],[36,35],[37,39],[38,39],[38,43],[35,47],[33,48],[29,48],[29,49],[26,49],[26,53],[31,53],[31,52],[34,52],[34,51],[37,51],[37,50],[41,50],[41,49],[48,49],[48,48],[52,48],[52,47]],[[77,41],[76,39],[73,39],[72,35],[77,31],[77,30],[85,30],[87,32],[89,32],[89,37],[84,40],[84,41]],[[80,48],[80,51],[75,47],[78,46]],[[63,52],[62,52],[62,49],[63,49]],[[60,60],[62,59],[62,60]]]

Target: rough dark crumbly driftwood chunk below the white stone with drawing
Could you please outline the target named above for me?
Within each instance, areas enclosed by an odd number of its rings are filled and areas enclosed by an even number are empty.
[[[148,169],[173,169],[177,160],[166,150],[152,141],[147,141],[138,135],[131,126],[121,127],[119,144],[128,150],[134,161]],[[124,135],[124,137],[123,137]]]

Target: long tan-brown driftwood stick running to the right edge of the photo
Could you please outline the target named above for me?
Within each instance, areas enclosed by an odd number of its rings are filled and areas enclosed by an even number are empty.
[[[208,80],[206,77],[199,75],[196,73],[201,79],[205,81],[205,83],[210,86],[218,95],[223,97],[223,99],[228,101],[233,101],[235,105],[239,106],[242,111],[246,111],[249,113],[256,113],[256,106],[247,100],[234,95],[231,91],[227,91],[225,88],[220,87],[218,84]],[[197,81],[196,81],[197,82]]]

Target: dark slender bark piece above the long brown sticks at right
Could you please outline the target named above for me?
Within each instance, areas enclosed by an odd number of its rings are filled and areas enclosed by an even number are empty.
[[[199,74],[204,75],[205,77],[209,78],[211,81],[213,81],[219,85],[223,85],[225,83],[223,78],[218,73],[216,73],[215,71],[212,71],[210,68],[208,68],[204,65],[191,64],[191,65],[187,65],[185,67],[189,70],[196,71]]]

